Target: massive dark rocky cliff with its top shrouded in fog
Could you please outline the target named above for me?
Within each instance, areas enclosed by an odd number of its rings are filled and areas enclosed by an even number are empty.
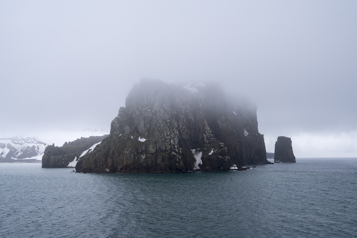
[[[256,107],[226,100],[219,85],[141,80],[110,135],[79,159],[79,172],[162,173],[266,164]]]

